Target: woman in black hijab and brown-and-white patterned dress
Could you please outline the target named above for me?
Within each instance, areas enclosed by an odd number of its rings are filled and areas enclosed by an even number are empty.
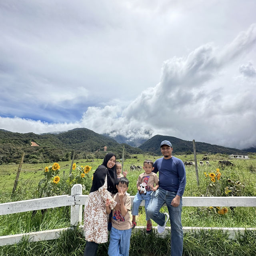
[[[117,193],[116,156],[108,153],[93,174],[92,188],[84,205],[84,230],[86,248],[84,256],[96,256],[98,245],[108,241],[108,214],[105,202],[110,208],[116,206],[112,194]]]

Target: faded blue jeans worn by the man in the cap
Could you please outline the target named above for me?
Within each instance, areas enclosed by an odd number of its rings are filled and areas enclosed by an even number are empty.
[[[171,223],[171,256],[182,256],[183,250],[183,230],[181,224],[182,198],[180,205],[173,207],[172,199],[176,193],[158,188],[151,194],[151,200],[148,204],[148,217],[160,226],[164,226],[165,214],[160,212],[161,207],[166,203],[170,215]]]

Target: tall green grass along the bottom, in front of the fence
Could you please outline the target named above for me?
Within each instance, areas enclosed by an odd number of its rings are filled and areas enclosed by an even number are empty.
[[[0,256],[82,256],[86,242],[78,230],[67,230],[59,239],[20,243],[0,247]],[[98,256],[107,256],[108,243],[100,244]],[[170,255],[170,234],[161,238],[155,231],[132,234],[130,256]],[[256,255],[256,232],[238,234],[230,240],[228,234],[218,230],[184,233],[183,256],[254,256]]]

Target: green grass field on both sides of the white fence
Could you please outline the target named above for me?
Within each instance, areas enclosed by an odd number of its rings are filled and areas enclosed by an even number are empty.
[[[182,155],[177,156],[183,161],[194,161],[193,155]],[[197,155],[198,162],[202,160],[203,155]],[[230,160],[234,163],[234,166],[225,166],[222,168],[218,165],[219,160],[227,160],[223,155],[209,155],[209,166],[200,166],[198,165],[198,175],[200,185],[197,185],[196,182],[196,173],[194,166],[186,166],[186,177],[187,184],[184,192],[184,196],[201,196],[206,194],[207,187],[209,185],[209,179],[206,178],[204,172],[207,174],[214,172],[216,168],[220,168],[221,178],[219,181],[220,191],[224,193],[224,188],[228,184],[228,180],[234,182],[240,182],[244,187],[242,189],[244,196],[256,196],[256,159],[250,158],[248,160],[234,159]],[[136,181],[138,175],[142,171],[130,171],[131,165],[143,165],[145,159],[156,160],[156,156],[148,156],[146,154],[134,155],[131,159],[126,159],[124,161],[124,169],[128,170],[127,178],[130,181],[128,193],[130,195],[135,195],[137,192]],[[87,180],[87,191],[90,189],[91,177],[93,171],[102,163],[101,159],[82,159],[75,160],[77,165],[89,165],[92,166],[92,170],[89,172],[89,178]],[[204,161],[205,162],[205,161]],[[70,171],[71,161],[68,162],[58,162],[60,164],[60,182],[58,184],[59,191],[58,194],[66,194],[67,184],[66,180]],[[16,178],[16,172],[18,165],[1,165],[0,166],[0,202],[11,202],[18,200],[26,200],[34,198],[34,192],[38,185],[40,179],[44,177],[44,168],[53,163],[47,164],[26,164],[22,165],[22,171],[20,173],[20,178],[18,182],[17,192],[11,198],[11,192],[14,185],[14,180]],[[222,195],[223,196],[223,195]],[[162,208],[162,211],[166,209]],[[228,209],[228,212],[225,215],[213,214],[206,207],[183,207],[182,209],[182,224],[183,226],[197,226],[197,227],[251,227],[256,228],[256,208],[254,207],[236,207],[234,209]],[[140,208],[140,214],[137,217],[138,226],[146,226],[145,220],[145,211],[144,207]],[[70,208],[61,207],[48,209],[44,215],[40,211],[32,218],[32,212],[24,212],[17,214],[8,214],[0,216],[0,236],[5,236],[9,234],[20,234],[25,232],[48,230],[55,228],[64,228],[70,226]],[[153,223],[153,226],[156,226],[156,223]],[[167,225],[170,226],[170,223]],[[145,233],[145,232],[144,232]],[[138,239],[142,239],[142,244],[145,241],[149,241],[150,236],[143,232],[141,234],[134,234],[132,236],[133,247],[131,247],[130,255],[166,255],[169,254],[169,238],[160,239],[152,234],[151,239],[158,241],[158,244],[162,244],[162,252],[160,250],[155,251],[154,254],[150,252],[143,253],[139,244],[136,242]],[[76,238],[72,238],[76,236]],[[246,233],[245,236],[237,238],[237,241],[240,241],[242,244],[240,249],[237,248],[234,241],[229,241],[225,234],[220,234],[219,232],[200,232],[197,234],[186,234],[184,235],[184,255],[256,255],[256,245],[255,245],[256,234],[254,232]],[[169,239],[169,240],[168,240]],[[253,240],[254,239],[254,240]],[[75,241],[74,244],[72,241]],[[198,245],[198,240],[201,242]],[[209,240],[209,247],[206,248],[206,240]],[[221,245],[224,248],[218,245],[217,240],[223,242]],[[252,246],[246,247],[246,242],[250,241]],[[64,245],[63,243],[66,243]],[[151,240],[150,240],[151,241]],[[236,242],[237,242],[236,241]],[[59,246],[71,246],[72,249],[66,248],[66,251],[70,251],[68,254],[64,254],[65,251],[60,250]],[[131,242],[132,244],[132,242]],[[136,244],[136,246],[135,246]],[[138,246],[137,246],[138,244]],[[204,244],[204,245],[203,245]],[[211,245],[210,245],[211,244]],[[218,246],[217,246],[218,245]],[[232,246],[233,247],[232,247]],[[107,245],[102,245],[98,255],[106,255],[105,247]],[[146,245],[145,245],[146,246]],[[44,249],[42,249],[44,248]],[[47,250],[46,250],[47,248]],[[196,250],[196,248],[199,248]],[[233,250],[236,248],[237,250]],[[84,250],[84,238],[74,232],[67,232],[61,239],[58,239],[53,242],[35,242],[28,243],[23,241],[18,245],[13,246],[2,246],[0,248],[0,255],[83,255]],[[152,249],[153,250],[153,249]],[[18,254],[21,252],[22,254]],[[47,252],[46,252],[47,251]],[[153,250],[154,251],[154,250]],[[198,252],[201,252],[198,254]],[[222,252],[222,253],[221,253]],[[230,254],[232,252],[232,254]],[[244,252],[244,254],[242,254]],[[245,252],[250,252],[249,254]],[[38,254],[36,254],[38,253]],[[44,254],[43,254],[44,253]],[[102,254],[100,254],[102,253]]]

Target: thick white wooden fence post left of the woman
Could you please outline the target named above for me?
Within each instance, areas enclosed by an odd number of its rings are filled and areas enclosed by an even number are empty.
[[[75,184],[71,188],[71,196],[82,195],[82,185]],[[82,205],[76,204],[75,198],[75,205],[71,206],[70,211],[70,226],[79,226],[82,223]]]

